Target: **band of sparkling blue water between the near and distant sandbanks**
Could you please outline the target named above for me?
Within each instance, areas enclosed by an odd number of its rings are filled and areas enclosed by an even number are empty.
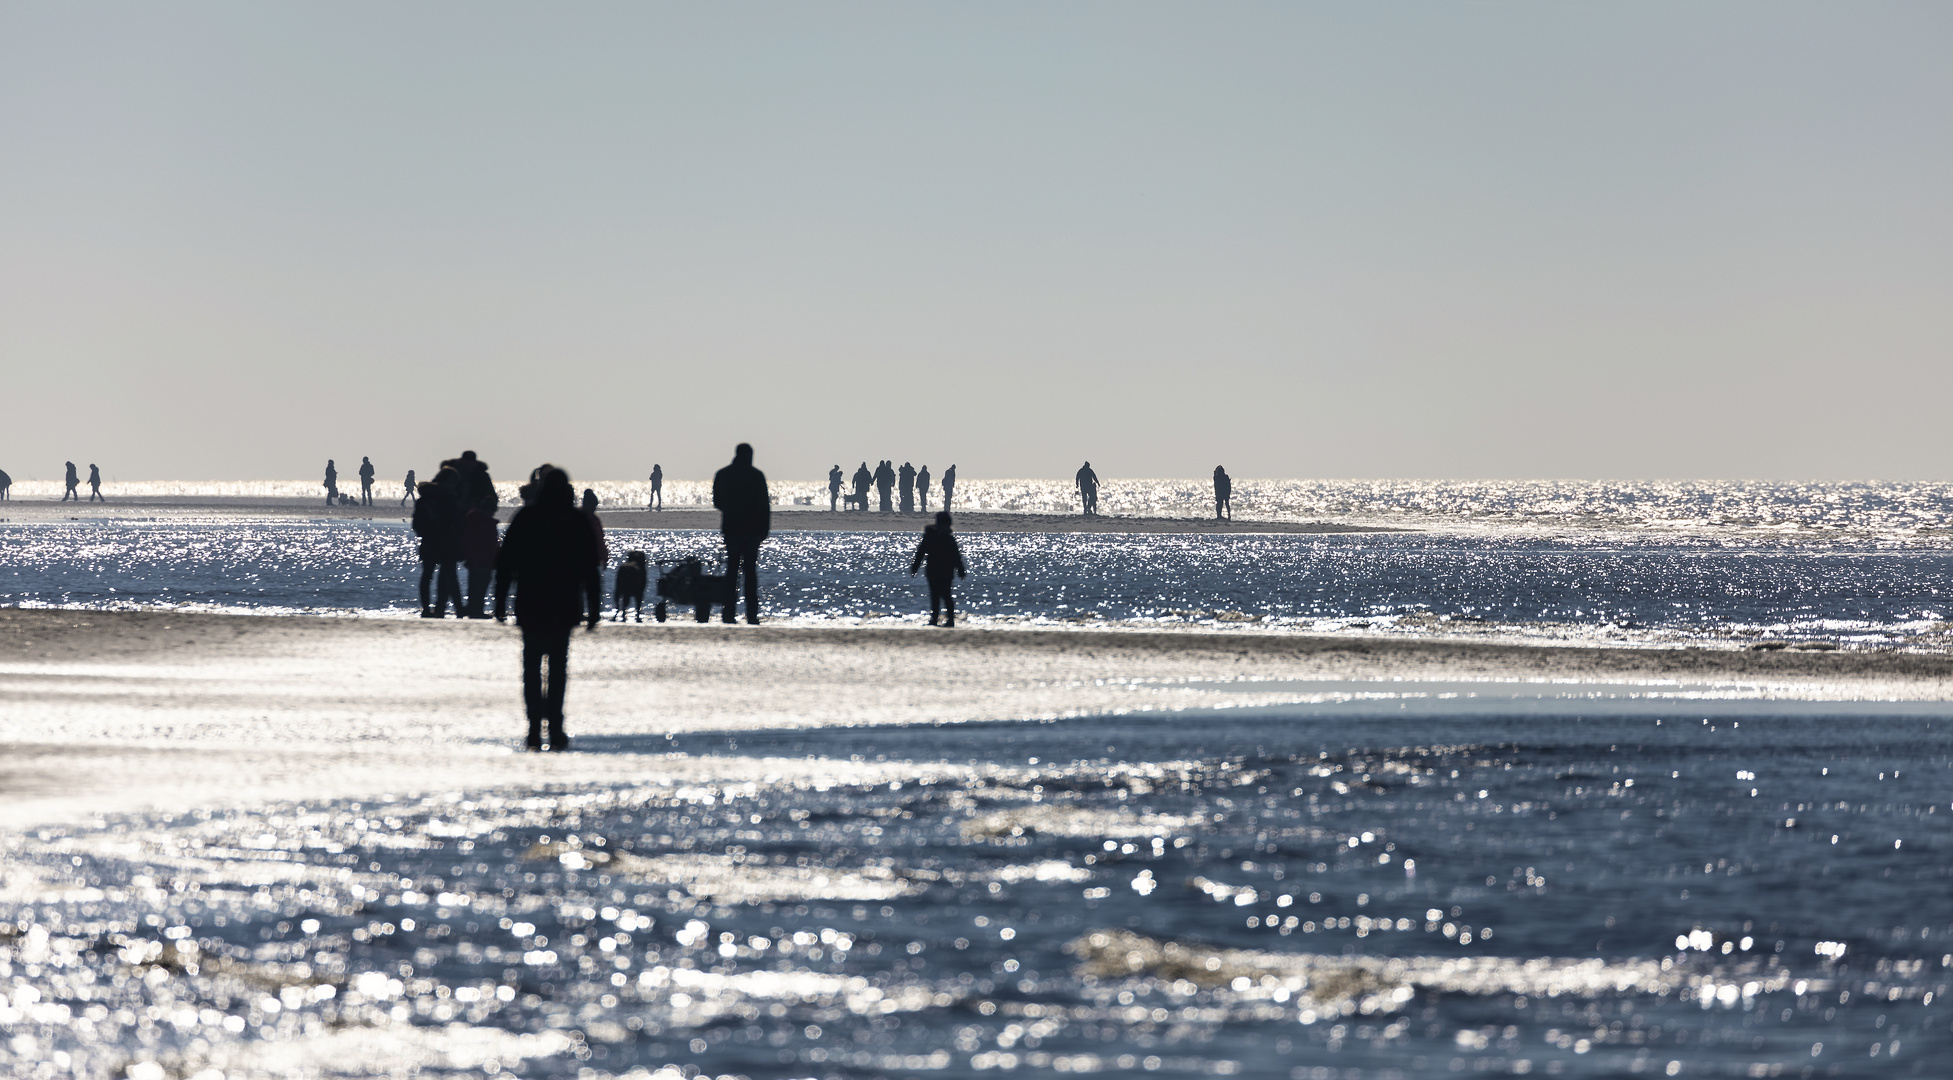
[[[701,555],[713,533],[613,529],[613,553]],[[918,617],[904,533],[781,531],[766,605],[799,619]],[[1668,533],[969,533],[965,615],[1018,623],[1262,625],[1603,641],[1947,633],[1953,547]],[[418,605],[395,523],[0,525],[0,603],[395,611]],[[687,617],[689,611],[680,611]]]

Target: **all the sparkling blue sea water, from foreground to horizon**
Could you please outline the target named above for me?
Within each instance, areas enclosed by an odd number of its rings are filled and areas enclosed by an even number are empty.
[[[965,609],[994,629],[1945,648],[1945,488],[1242,488],[1244,518],[1254,498],[1271,519],[1402,531],[973,533]],[[984,498],[1057,512],[1039,490]],[[1109,512],[1207,510],[1193,482],[1117,492]],[[0,545],[12,605],[416,607],[398,523],[0,523]],[[713,537],[615,529],[611,549],[627,547],[711,557]],[[922,619],[910,549],[900,533],[781,531],[766,602],[810,625]],[[135,1080],[1953,1070],[1947,703],[1320,689],[1348,693],[590,736],[578,754],[732,760],[750,779],[12,830],[0,1066]]]

